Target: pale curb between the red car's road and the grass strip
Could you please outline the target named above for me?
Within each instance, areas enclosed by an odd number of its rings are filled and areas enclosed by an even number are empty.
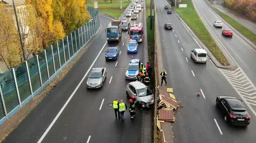
[[[252,41],[250,41],[249,39],[247,39],[244,35],[242,35],[239,31],[237,31],[235,28],[233,28],[227,21],[225,21],[224,19],[221,18],[221,16],[217,13],[217,11],[215,10],[216,8],[214,8],[210,2],[208,0],[205,0],[207,2],[207,4],[211,7],[211,9],[216,13],[217,17],[223,22],[225,23],[230,29],[232,29],[238,36],[240,36],[242,39],[244,39],[246,41],[246,43],[248,43],[250,46],[252,46],[254,49],[256,49],[256,45],[254,43],[252,43]],[[227,15],[227,14],[226,14]],[[230,16],[229,16],[230,17]],[[242,24],[241,24],[242,25]],[[249,30],[249,29],[248,29]]]

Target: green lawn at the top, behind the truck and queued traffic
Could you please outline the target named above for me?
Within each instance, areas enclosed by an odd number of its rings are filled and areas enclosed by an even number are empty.
[[[131,1],[123,0],[123,9],[120,10],[120,1],[119,0],[110,0],[108,1],[99,1],[99,9],[101,13],[105,13],[111,16],[114,16],[118,19],[124,12],[125,8],[130,4]],[[87,5],[93,6],[93,1],[87,2]]]

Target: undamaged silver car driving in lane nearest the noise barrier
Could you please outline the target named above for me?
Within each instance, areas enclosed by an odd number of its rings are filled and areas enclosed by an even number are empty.
[[[87,88],[100,88],[106,80],[106,68],[93,68],[87,79]]]

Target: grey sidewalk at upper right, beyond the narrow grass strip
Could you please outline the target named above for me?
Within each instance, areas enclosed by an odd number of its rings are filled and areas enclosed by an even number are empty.
[[[219,11],[227,14],[228,16],[230,16],[230,18],[233,18],[234,20],[236,20],[237,22],[239,22],[240,24],[242,24],[244,27],[246,27],[247,29],[249,29],[250,31],[254,32],[256,34],[256,23],[245,18],[244,15],[239,14],[235,11],[229,10],[226,7],[223,7],[221,5],[212,5],[214,8],[218,9]]]

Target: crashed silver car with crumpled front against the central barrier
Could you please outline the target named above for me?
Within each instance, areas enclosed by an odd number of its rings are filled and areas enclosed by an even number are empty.
[[[134,95],[137,102],[142,105],[142,107],[152,107],[154,105],[154,95],[153,92],[140,81],[130,82],[126,86],[126,96],[131,98]]]

